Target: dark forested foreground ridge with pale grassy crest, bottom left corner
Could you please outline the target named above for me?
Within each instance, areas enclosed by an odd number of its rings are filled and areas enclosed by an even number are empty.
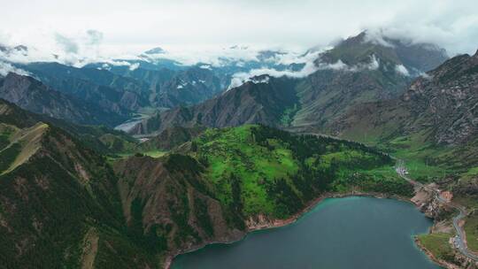
[[[2,136],[9,136],[4,131]],[[39,123],[18,132],[20,138],[13,135],[11,142],[20,149],[8,153],[17,156],[14,165],[0,175],[2,265],[72,268],[91,260],[98,267],[157,264],[142,249],[141,234],[128,234],[116,178],[103,158],[57,127]],[[125,255],[119,258],[118,251]]]

